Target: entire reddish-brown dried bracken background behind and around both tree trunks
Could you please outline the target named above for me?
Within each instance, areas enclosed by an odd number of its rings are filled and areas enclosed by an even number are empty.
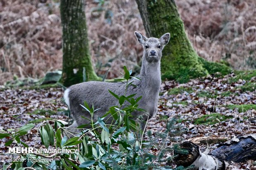
[[[99,3],[100,2],[100,3]],[[104,2],[102,4],[101,2]],[[177,1],[187,34],[198,54],[228,61],[235,69],[256,68],[254,0]],[[142,56],[133,32],[145,33],[135,0],[86,0],[92,60],[98,74],[116,77]],[[0,2],[0,84],[19,77],[43,77],[62,68],[59,1]]]

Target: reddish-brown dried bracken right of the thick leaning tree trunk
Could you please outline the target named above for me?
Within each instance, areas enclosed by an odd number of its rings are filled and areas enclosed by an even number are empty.
[[[238,70],[256,68],[255,0],[176,1],[199,56]]]

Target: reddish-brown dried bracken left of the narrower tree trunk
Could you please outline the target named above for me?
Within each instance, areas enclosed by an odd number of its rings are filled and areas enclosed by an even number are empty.
[[[42,77],[62,67],[61,20],[56,5],[38,1],[0,2],[1,79]]]

